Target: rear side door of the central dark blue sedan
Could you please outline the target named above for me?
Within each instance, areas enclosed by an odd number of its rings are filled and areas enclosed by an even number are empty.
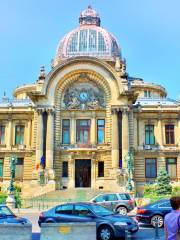
[[[56,222],[74,222],[76,217],[73,215],[73,204],[64,204],[55,209]]]

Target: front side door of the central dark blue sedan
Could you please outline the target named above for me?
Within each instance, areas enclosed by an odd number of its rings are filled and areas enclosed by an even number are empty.
[[[74,217],[76,222],[94,222],[95,215],[86,206],[81,204],[74,205]]]

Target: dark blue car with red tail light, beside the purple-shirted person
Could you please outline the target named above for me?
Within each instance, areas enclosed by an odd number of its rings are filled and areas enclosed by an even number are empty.
[[[171,210],[170,201],[163,199],[137,208],[136,219],[138,222],[151,224],[153,227],[157,222],[158,227],[161,228],[164,225],[165,215]]]

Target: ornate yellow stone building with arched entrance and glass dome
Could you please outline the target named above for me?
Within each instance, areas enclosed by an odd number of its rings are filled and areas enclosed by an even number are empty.
[[[13,154],[24,191],[38,186],[43,163],[47,189],[124,190],[129,151],[138,192],[160,168],[180,180],[180,103],[127,74],[116,39],[90,6],[79,23],[60,41],[52,70],[42,67],[35,84],[0,102],[1,186]]]

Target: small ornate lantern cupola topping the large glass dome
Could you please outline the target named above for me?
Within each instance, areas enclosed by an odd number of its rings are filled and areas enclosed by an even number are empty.
[[[88,5],[87,9],[81,12],[79,23],[80,25],[100,26],[101,19],[99,14],[92,8],[92,6]]]

